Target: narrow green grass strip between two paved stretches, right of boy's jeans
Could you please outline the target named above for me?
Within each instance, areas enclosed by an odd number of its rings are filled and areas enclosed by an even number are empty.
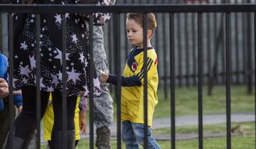
[[[242,133],[244,136],[255,135],[255,123],[232,123],[235,133]],[[198,126],[177,126],[176,133],[198,133]],[[225,133],[226,124],[204,125],[203,133]],[[171,128],[154,129],[153,133],[171,134]]]

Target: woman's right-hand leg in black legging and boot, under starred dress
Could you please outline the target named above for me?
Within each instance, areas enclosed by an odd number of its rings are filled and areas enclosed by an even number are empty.
[[[60,92],[52,92],[54,123],[51,134],[50,148],[63,148],[63,107]],[[67,148],[75,148],[75,106],[77,96],[67,97]]]

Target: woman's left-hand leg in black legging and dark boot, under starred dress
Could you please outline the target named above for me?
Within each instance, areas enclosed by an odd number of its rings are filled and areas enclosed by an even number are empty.
[[[23,109],[14,121],[14,145],[27,144],[36,129],[36,88],[33,86],[23,87],[22,89]],[[41,118],[46,111],[49,92],[41,92]],[[9,142],[9,141],[8,141]],[[17,143],[15,143],[17,142]],[[9,148],[9,145],[6,145]]]

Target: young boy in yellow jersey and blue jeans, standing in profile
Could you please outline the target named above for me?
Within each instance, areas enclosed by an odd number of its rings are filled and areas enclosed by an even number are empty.
[[[147,89],[148,89],[148,139],[149,148],[160,148],[151,136],[151,126],[154,107],[158,99],[156,95],[159,79],[157,74],[157,56],[151,47],[150,39],[156,28],[156,18],[153,13],[147,13]],[[127,38],[134,48],[127,57],[127,63],[122,76],[122,140],[126,148],[139,148],[144,145],[144,49],[143,49],[143,13],[127,14]],[[117,76],[102,72],[102,82],[117,84]]]

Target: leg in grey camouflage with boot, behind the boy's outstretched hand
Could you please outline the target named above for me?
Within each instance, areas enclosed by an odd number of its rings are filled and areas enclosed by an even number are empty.
[[[103,31],[101,26],[93,26],[93,60],[96,70],[102,70],[109,72],[107,66],[107,57],[104,48]],[[100,76],[100,72],[97,71],[97,76]],[[110,147],[110,126],[113,121],[113,100],[110,96],[110,92],[107,89],[109,84],[102,84],[100,82],[100,88],[102,94],[96,97],[94,100],[94,123],[96,126],[96,146],[97,148],[108,149]]]

